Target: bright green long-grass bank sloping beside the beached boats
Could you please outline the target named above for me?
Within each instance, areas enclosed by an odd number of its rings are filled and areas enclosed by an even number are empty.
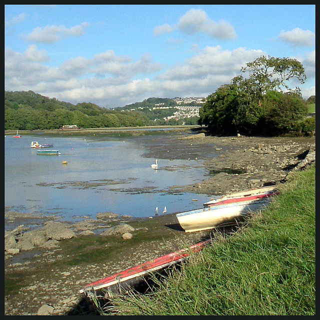
[[[117,315],[315,314],[315,165],[235,234],[213,243],[153,293],[112,300]]]

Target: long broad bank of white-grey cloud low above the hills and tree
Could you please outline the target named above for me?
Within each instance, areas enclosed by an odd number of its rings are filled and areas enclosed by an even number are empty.
[[[46,52],[37,50],[35,45],[30,45],[24,53],[7,48],[4,89],[33,90],[74,104],[85,101],[109,107],[142,101],[150,96],[207,96],[240,74],[245,63],[262,54],[266,52],[244,47],[224,50],[219,45],[206,46],[193,50],[193,55],[182,63],[163,69],[149,54],[132,60],[128,55],[116,55],[107,50],[92,58],[78,56],[60,66],[49,67],[44,64]],[[315,51],[299,60],[306,72],[314,76]],[[313,91],[301,89],[301,92],[304,96]]]

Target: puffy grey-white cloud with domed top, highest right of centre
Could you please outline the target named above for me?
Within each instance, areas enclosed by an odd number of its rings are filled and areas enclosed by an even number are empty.
[[[170,33],[174,30],[180,30],[186,34],[204,33],[212,38],[233,39],[236,33],[233,26],[226,21],[219,22],[211,20],[205,11],[201,9],[190,9],[182,15],[177,25],[169,24],[158,25],[153,32],[156,35]]]

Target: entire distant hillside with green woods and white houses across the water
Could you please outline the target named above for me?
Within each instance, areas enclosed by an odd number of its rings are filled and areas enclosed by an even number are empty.
[[[184,102],[186,99],[187,102]],[[199,98],[148,98],[107,109],[91,102],[76,105],[29,91],[4,91],[4,129],[58,129],[197,124]]]

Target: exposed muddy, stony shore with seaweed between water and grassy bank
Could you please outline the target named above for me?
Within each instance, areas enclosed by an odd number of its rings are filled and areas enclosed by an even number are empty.
[[[166,152],[144,143],[145,156],[204,160],[207,179],[172,187],[193,193],[224,194],[281,183],[290,171],[315,161],[315,137],[200,133],[174,137]],[[174,214],[135,219],[101,212],[75,223],[33,218],[32,224],[29,215],[5,213],[5,223],[15,225],[4,234],[5,315],[97,314],[78,293],[82,286],[220,232],[185,233]]]

